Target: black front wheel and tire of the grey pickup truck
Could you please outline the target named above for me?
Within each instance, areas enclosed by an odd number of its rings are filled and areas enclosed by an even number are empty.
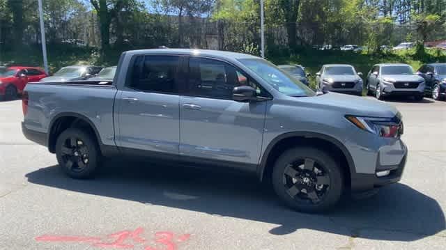
[[[316,169],[321,172],[317,173]],[[295,177],[291,178],[291,175]],[[316,185],[318,182],[320,187]],[[300,212],[322,212],[332,208],[341,198],[344,176],[339,163],[328,153],[312,147],[298,147],[286,150],[277,158],[272,185],[277,196],[290,208]]]

